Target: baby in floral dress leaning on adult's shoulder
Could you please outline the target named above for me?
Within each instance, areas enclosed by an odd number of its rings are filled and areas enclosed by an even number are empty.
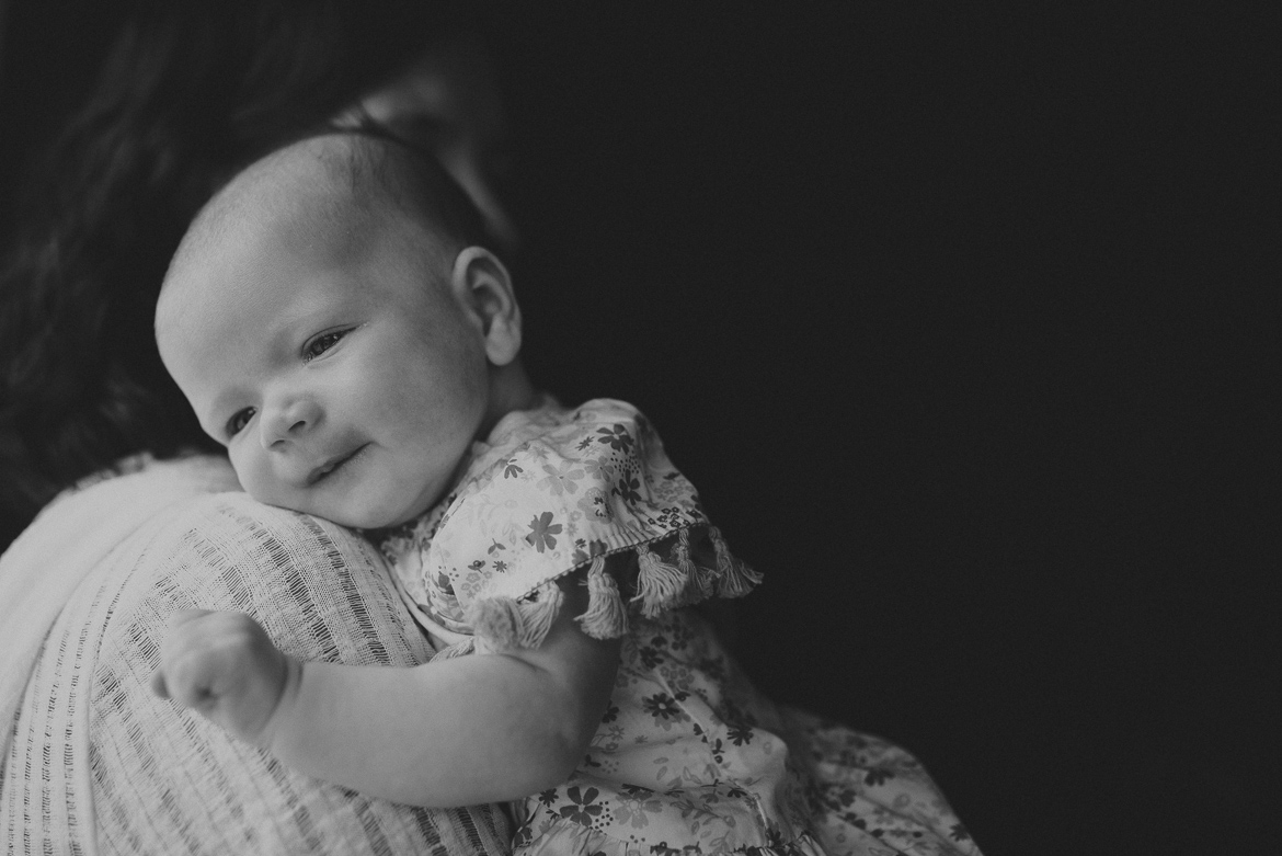
[[[188,610],[156,692],[369,796],[514,801],[520,853],[977,852],[910,756],[773,705],[685,609],[759,578],[640,413],[535,390],[482,235],[431,159],[351,132],[192,223],[167,368],[249,493],[374,539],[438,654],[300,663]]]

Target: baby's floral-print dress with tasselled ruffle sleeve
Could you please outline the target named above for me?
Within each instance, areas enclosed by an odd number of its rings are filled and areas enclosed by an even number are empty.
[[[515,806],[520,856],[978,853],[917,761],[756,692],[691,609],[760,577],[620,401],[506,415],[458,487],[379,546],[437,657],[537,647],[562,605],[622,637],[579,768]]]

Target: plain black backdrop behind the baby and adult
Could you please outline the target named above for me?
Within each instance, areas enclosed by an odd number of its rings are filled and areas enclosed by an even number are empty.
[[[909,747],[990,856],[1259,843],[1272,22],[494,8],[528,363],[637,404],[767,574],[763,688]],[[10,17],[13,149],[109,21],[59,9]]]

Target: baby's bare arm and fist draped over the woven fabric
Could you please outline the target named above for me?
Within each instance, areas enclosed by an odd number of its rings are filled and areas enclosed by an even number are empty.
[[[285,764],[420,806],[514,800],[564,782],[609,701],[619,642],[586,636],[577,577],[542,646],[409,669],[300,663],[235,613],[188,613],[154,686]]]

